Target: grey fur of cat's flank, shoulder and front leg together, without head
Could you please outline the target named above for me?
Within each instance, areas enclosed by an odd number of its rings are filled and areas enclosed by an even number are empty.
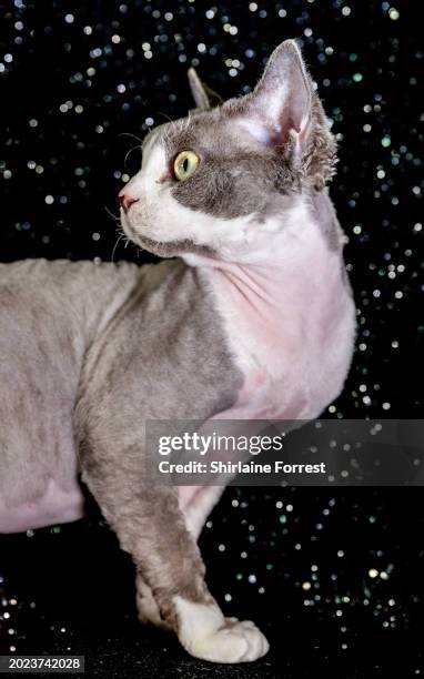
[[[3,509],[51,478],[69,488],[79,468],[175,627],[175,591],[211,597],[175,490],[145,483],[144,423],[209,417],[241,386],[202,274],[181,261],[1,265],[0,314]]]

